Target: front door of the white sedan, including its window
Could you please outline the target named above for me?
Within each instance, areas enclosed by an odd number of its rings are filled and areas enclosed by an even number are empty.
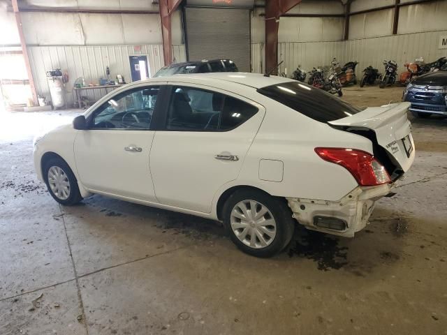
[[[149,170],[150,130],[159,87],[117,94],[87,117],[75,139],[78,174],[87,189],[156,202]]]

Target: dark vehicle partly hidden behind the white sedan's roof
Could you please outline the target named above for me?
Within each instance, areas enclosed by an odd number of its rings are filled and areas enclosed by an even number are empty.
[[[237,72],[237,66],[230,59],[203,59],[203,61],[185,61],[184,63],[171,64],[158,70],[154,77],[166,77],[167,75],[184,75],[186,73],[208,72]]]

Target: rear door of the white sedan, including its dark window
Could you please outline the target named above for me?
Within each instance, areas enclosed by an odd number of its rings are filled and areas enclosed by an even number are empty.
[[[261,126],[261,105],[199,85],[171,87],[166,124],[150,168],[162,204],[210,213],[219,188],[237,178]]]

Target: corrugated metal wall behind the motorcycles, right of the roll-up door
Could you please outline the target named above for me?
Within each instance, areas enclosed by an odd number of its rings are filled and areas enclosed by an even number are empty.
[[[301,66],[309,71],[312,67],[329,65],[333,57],[342,64],[347,61],[358,61],[357,75],[372,65],[383,72],[383,59],[393,59],[399,65],[399,73],[404,71],[404,63],[423,57],[430,62],[439,57],[447,57],[447,49],[438,49],[439,36],[447,35],[444,31],[403,34],[365,38],[360,40],[344,40],[333,42],[291,42],[278,43],[278,61],[284,61],[279,70],[290,77],[295,68]],[[261,72],[261,59],[254,50],[259,50],[262,43],[251,45],[251,66],[254,72]]]

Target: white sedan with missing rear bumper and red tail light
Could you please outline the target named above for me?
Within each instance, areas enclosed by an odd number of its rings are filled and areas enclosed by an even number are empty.
[[[295,223],[353,237],[414,159],[409,103],[364,110],[284,77],[133,82],[34,143],[57,202],[91,193],[223,221],[269,257]]]

